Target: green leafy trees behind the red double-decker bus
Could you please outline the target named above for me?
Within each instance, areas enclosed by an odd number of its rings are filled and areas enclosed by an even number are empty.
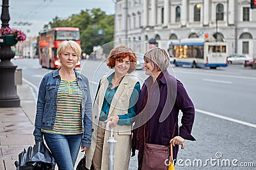
[[[81,48],[85,53],[92,53],[93,46],[102,46],[113,41],[114,15],[106,15],[99,8],[81,10],[79,14],[61,20],[55,17],[47,27],[78,27],[80,29]],[[98,31],[102,30],[102,34]],[[113,48],[113,46],[111,46]]]

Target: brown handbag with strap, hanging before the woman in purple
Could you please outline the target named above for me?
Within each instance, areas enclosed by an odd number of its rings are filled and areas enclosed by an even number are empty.
[[[175,124],[176,125],[176,124]],[[174,136],[175,125],[172,138]],[[170,159],[170,146],[156,145],[146,143],[144,127],[144,151],[141,170],[168,170],[168,161]],[[167,164],[166,164],[167,163]]]

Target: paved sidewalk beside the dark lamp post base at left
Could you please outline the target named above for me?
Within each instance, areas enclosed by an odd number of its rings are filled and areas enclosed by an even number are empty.
[[[24,148],[34,145],[36,102],[27,84],[17,85],[20,108],[0,108],[0,169],[16,169],[14,162]]]

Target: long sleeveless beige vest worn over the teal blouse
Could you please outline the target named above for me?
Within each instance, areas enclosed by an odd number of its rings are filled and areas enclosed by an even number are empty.
[[[92,144],[90,148],[86,150],[86,168],[88,169],[90,169],[92,164],[93,153],[95,151],[97,141],[97,127],[99,124],[100,110],[104,101],[104,95],[109,85],[107,77],[108,76],[104,76],[100,81],[100,89],[92,109]],[[128,113],[130,97],[136,82],[137,81],[133,80],[129,74],[124,76],[111,102],[108,117]],[[132,125],[116,125],[116,127],[113,129],[113,135],[117,141],[115,143],[114,169],[128,169],[129,167],[131,157],[131,130]],[[108,169],[109,153],[107,141],[109,136],[110,132],[106,130],[102,151],[101,169]]]

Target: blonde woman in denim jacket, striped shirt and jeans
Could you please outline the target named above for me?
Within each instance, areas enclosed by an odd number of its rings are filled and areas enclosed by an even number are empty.
[[[35,142],[43,141],[59,170],[74,169],[79,149],[91,145],[92,100],[88,78],[75,67],[81,48],[63,41],[57,50],[61,67],[44,76],[38,90]]]

